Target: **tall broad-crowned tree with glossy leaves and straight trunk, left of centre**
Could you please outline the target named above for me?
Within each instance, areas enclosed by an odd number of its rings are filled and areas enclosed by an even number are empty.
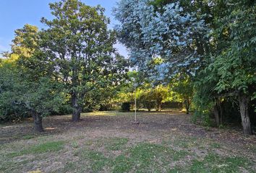
[[[72,120],[80,120],[85,97],[92,90],[119,83],[123,58],[116,53],[116,33],[108,30],[109,19],[101,6],[78,0],[50,4],[54,19],[41,19],[48,28],[40,33],[40,49],[56,76],[66,84],[72,100]]]

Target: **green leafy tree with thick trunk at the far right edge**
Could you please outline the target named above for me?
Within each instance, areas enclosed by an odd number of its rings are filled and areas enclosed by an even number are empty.
[[[216,17],[218,27],[214,33],[220,53],[210,65],[218,71],[215,89],[238,97],[244,133],[251,135],[248,104],[255,97],[256,84],[255,1],[220,1],[218,4],[224,6],[226,12]]]

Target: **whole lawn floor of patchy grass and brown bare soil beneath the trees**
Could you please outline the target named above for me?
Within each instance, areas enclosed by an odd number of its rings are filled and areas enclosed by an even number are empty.
[[[256,137],[182,112],[91,112],[0,125],[0,172],[256,172]]]

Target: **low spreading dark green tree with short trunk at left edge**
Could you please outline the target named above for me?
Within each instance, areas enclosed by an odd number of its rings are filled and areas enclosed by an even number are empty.
[[[8,61],[0,66],[0,113],[1,120],[19,120],[31,115],[35,130],[43,131],[43,117],[58,111],[64,102],[61,84],[47,76],[33,80],[24,68]]]

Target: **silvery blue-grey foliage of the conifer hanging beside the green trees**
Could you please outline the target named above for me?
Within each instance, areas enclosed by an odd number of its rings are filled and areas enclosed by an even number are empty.
[[[184,11],[179,2],[157,7],[148,0],[122,0],[114,14],[121,23],[116,28],[119,40],[129,48],[131,61],[141,71],[159,81],[169,81],[181,68],[189,73],[198,68],[202,55],[195,41],[208,28],[203,19]],[[148,68],[155,58],[161,58],[161,63]]]

